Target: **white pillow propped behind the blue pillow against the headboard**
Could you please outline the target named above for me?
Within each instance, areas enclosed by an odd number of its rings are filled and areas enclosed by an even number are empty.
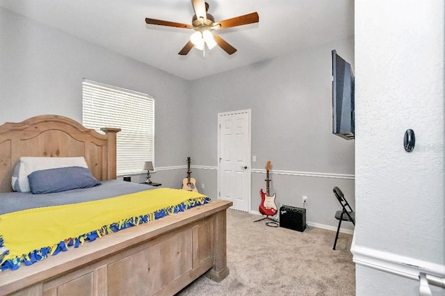
[[[29,192],[28,175],[39,170],[56,169],[58,167],[86,167],[85,158],[79,157],[21,157],[14,167],[11,186],[17,192]]]

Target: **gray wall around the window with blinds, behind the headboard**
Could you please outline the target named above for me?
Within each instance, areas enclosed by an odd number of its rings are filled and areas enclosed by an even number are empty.
[[[4,8],[0,8],[0,53],[0,124],[42,114],[81,122],[82,79],[91,79],[152,95],[155,165],[185,164],[191,149],[184,124],[190,114],[188,81]],[[186,170],[181,171],[182,179]],[[175,180],[176,172],[156,174],[153,181],[181,181]],[[142,181],[143,176],[135,179]]]

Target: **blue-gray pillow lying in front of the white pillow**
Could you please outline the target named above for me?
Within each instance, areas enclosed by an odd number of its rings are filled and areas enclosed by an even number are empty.
[[[38,170],[28,175],[33,194],[62,192],[101,185],[86,167],[58,167]]]

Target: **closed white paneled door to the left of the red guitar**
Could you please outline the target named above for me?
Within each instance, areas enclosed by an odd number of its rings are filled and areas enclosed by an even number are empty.
[[[218,198],[250,211],[250,110],[218,113]]]

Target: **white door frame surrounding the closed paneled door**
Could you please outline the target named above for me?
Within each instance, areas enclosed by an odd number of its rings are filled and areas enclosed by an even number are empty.
[[[252,109],[244,109],[244,110],[235,110],[235,111],[229,111],[229,112],[221,112],[218,113],[218,155],[217,155],[217,161],[218,161],[218,174],[217,174],[217,197],[218,199],[220,199],[220,174],[221,174],[221,162],[220,162],[220,137],[221,137],[221,129],[220,129],[220,119],[224,116],[224,115],[231,115],[231,114],[238,114],[238,113],[247,113],[248,114],[248,160],[247,160],[247,165],[248,165],[248,169],[246,170],[246,174],[248,174],[248,181],[249,181],[249,185],[248,185],[248,190],[247,190],[247,198],[248,198],[248,213],[250,213],[250,211],[252,211]]]

